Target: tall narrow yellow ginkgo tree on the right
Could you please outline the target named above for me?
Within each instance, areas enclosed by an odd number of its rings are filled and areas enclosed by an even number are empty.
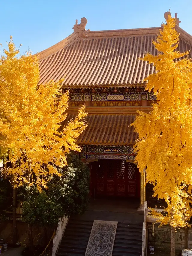
[[[146,78],[146,90],[153,90],[157,103],[150,113],[139,112],[132,124],[139,133],[134,151],[146,182],[154,185],[154,196],[165,199],[166,216],[153,214],[161,224],[185,227],[192,215],[192,62],[189,52],[177,51],[179,33],[176,20],[167,23],[153,42],[158,55],[146,54],[144,61],[153,63],[154,74]],[[175,254],[174,246],[171,255]]]

